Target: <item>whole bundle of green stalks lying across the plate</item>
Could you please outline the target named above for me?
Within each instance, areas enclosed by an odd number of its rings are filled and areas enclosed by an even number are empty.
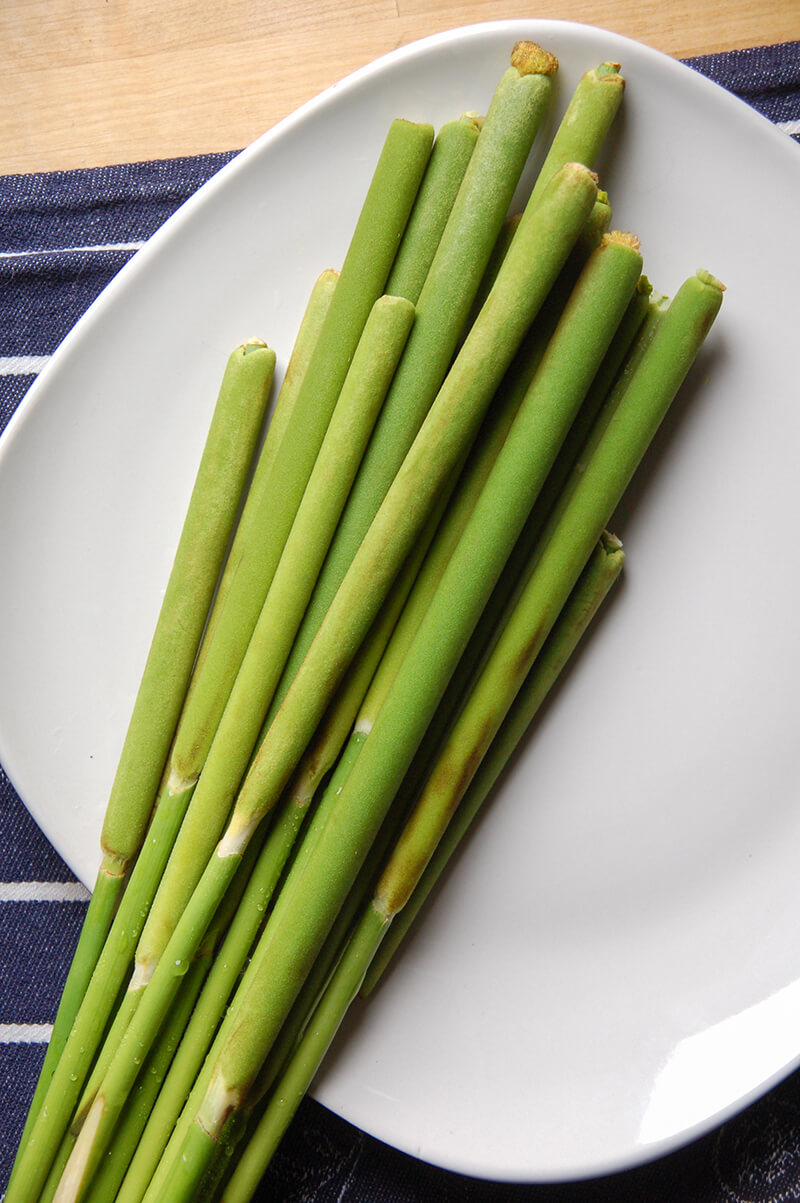
[[[609,231],[616,64],[509,218],[556,72],[392,124],[257,454],[274,352],[229,361],[7,1203],[253,1197],[620,574],[722,285]]]

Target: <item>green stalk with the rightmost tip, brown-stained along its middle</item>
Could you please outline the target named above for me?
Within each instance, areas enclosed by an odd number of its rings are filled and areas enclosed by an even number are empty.
[[[552,647],[558,646],[553,624],[562,608],[567,604],[575,581],[585,570],[591,556],[589,539],[595,535],[598,527],[602,528],[616,508],[697,355],[718,312],[721,300],[722,289],[718,282],[707,273],[699,273],[698,277],[683,285],[665,319],[659,324],[656,337],[632,377],[614,417],[605,426],[603,437],[594,449],[594,455],[570,481],[571,487],[568,487],[568,498],[561,517],[550,531],[549,541],[522,598],[520,612],[525,611],[526,622],[522,629],[515,630],[514,638],[509,633],[510,628],[506,628],[500,641],[509,653],[506,668],[500,674],[500,677],[505,678],[500,686],[503,692],[505,692],[505,685],[509,680],[506,676],[508,665],[512,666],[510,680],[518,680],[521,669],[515,666],[515,652],[522,654],[521,664],[529,666],[551,630],[553,632],[551,651]],[[532,630],[535,633],[533,638],[531,638]],[[563,648],[555,657],[556,663],[562,657]],[[500,645],[498,645],[496,656],[492,658],[493,664],[499,664],[502,658]],[[307,1048],[313,1048],[313,1056],[307,1063],[300,1055],[292,1060],[289,1073],[291,1074],[294,1068],[297,1078],[294,1081],[290,1079],[289,1083],[282,1081],[275,1090],[272,1112],[267,1112],[271,1116],[266,1121],[267,1130],[259,1133],[262,1138],[266,1136],[267,1140],[266,1146],[260,1142],[262,1152],[259,1156],[266,1155],[268,1157],[271,1155],[285,1128],[285,1119],[282,1114],[286,1098],[284,1086],[291,1090],[294,1085],[294,1096],[289,1096],[289,1106],[291,1107],[291,1098],[298,1100],[298,1092],[304,1091],[307,1081],[310,1080],[314,1061],[327,1047],[328,1035],[336,1030],[339,1008],[342,1003],[346,1007],[354,988],[357,989],[357,982],[365,965],[378,948],[390,917],[413,895],[415,882],[429,860],[431,846],[435,846],[438,842],[443,814],[446,814],[452,806],[454,798],[460,793],[460,787],[455,790],[452,788],[454,770],[457,782],[464,784],[469,784],[470,780],[474,782],[473,753],[476,760],[481,748],[488,746],[487,736],[482,734],[480,717],[482,713],[485,718],[487,712],[496,716],[497,689],[497,672],[492,672],[490,669],[486,676],[481,676],[473,695],[478,701],[474,704],[470,718],[464,719],[461,729],[457,730],[448,753],[440,761],[440,771],[432,778],[433,784],[429,787],[429,792],[438,802],[444,802],[442,812],[434,817],[432,824],[427,822],[427,817],[423,818],[421,811],[417,812],[416,822],[408,829],[410,834],[402,841],[397,849],[397,857],[392,857],[391,864],[395,867],[387,870],[380,883],[377,905],[365,914],[354,943],[345,952],[340,962],[342,972],[337,971],[334,976],[332,986],[338,978],[340,992],[337,995],[337,991],[331,989],[330,1015],[326,1017],[324,1007],[320,1012],[322,1017],[320,1023],[325,1023],[326,1018],[330,1019],[330,1023],[320,1033],[315,1018],[314,1026],[309,1030],[310,1035],[307,1033],[308,1041],[303,1041]],[[473,707],[473,698],[470,698],[470,707]],[[526,700],[533,700],[534,705],[538,705],[540,697],[535,687],[529,697],[526,694]],[[516,721],[521,721],[522,716],[528,717],[525,713],[525,707],[521,707],[514,721],[504,729],[503,737],[498,743],[498,748],[502,748],[503,752],[509,747],[509,743],[516,742]],[[490,724],[490,731],[492,728],[497,733],[496,717]],[[469,739],[464,737],[468,729],[472,729]],[[457,755],[455,754],[456,749]],[[499,759],[504,763],[505,757],[499,755]],[[494,758],[491,755],[490,763],[493,760]],[[490,774],[490,776],[492,775]],[[475,788],[476,794],[480,793],[476,783]],[[439,808],[437,807],[437,810]],[[196,1143],[191,1155],[197,1160],[203,1157],[205,1146]],[[257,1172],[259,1166],[250,1165],[248,1171],[245,1163],[245,1171],[242,1173],[242,1192],[237,1195],[231,1193],[230,1190],[226,1191],[226,1203],[242,1203],[243,1199],[249,1198],[248,1190],[260,1177]]]

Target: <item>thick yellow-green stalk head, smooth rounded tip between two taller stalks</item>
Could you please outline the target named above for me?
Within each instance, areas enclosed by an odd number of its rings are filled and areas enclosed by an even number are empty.
[[[131,990],[149,980],[221,835],[413,320],[401,297],[379,298],[367,319],[138,942]]]

